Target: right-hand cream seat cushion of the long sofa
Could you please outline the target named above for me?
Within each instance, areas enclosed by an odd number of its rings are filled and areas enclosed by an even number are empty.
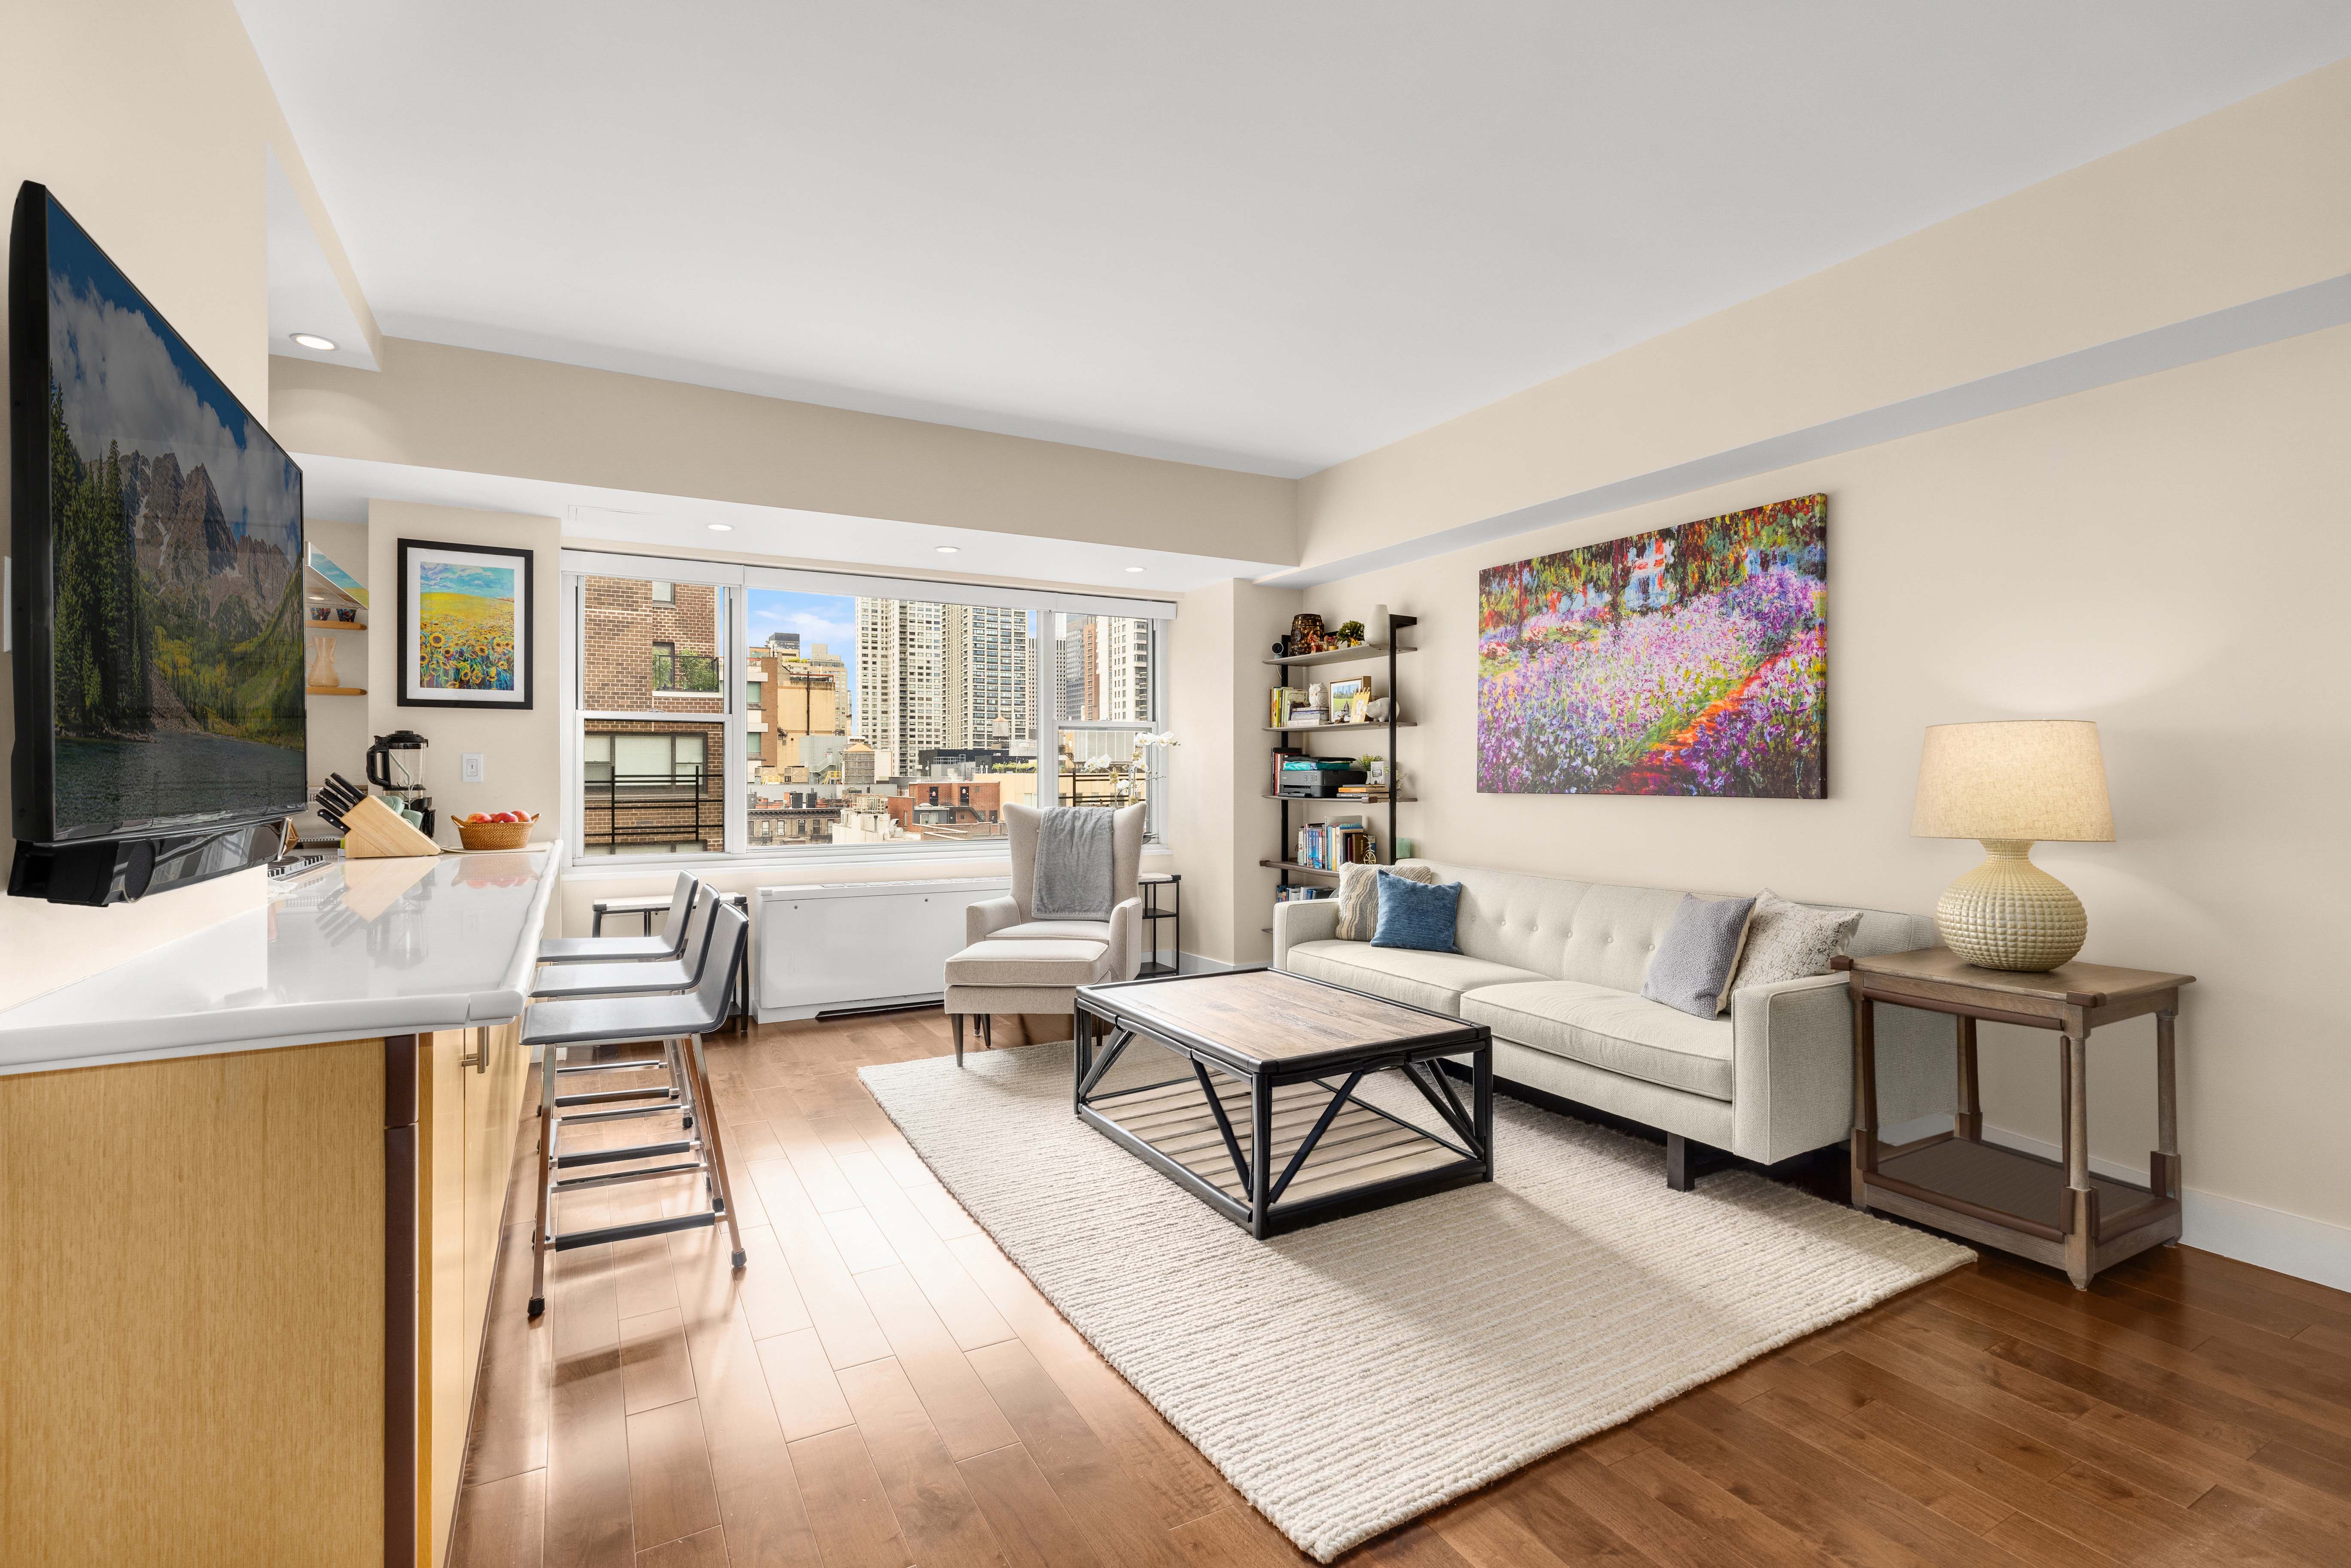
[[[1460,1013],[1495,1039],[1589,1063],[1629,1079],[1730,1098],[1730,1020],[1693,1018],[1662,1001],[1580,980],[1474,987]]]

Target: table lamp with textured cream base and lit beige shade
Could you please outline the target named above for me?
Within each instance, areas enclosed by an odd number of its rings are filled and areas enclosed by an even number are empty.
[[[1984,844],[1984,863],[1935,903],[1951,952],[1980,969],[2057,969],[2081,952],[2090,917],[2031,856],[2041,839],[2114,842],[2097,724],[1928,724],[1911,837]]]

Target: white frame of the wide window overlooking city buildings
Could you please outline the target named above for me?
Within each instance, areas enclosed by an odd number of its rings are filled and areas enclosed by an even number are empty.
[[[719,590],[719,642],[722,654],[717,691],[679,691],[675,696],[717,698],[722,710],[708,712],[618,712],[588,710],[585,696],[585,614],[588,578],[637,578],[644,583],[670,583],[672,599],[677,583],[708,585]],[[581,832],[569,844],[569,870],[611,872],[694,867],[717,863],[750,865],[905,865],[917,860],[987,860],[1009,853],[1006,839],[978,842],[912,842],[912,844],[752,844],[750,839],[750,592],[776,588],[788,592],[820,592],[837,597],[886,597],[929,604],[969,604],[990,609],[1023,609],[1037,616],[1037,625],[1049,635],[1032,639],[1030,691],[1037,708],[1037,799],[1041,804],[1060,797],[1060,731],[1119,731],[1150,733],[1168,726],[1166,710],[1166,663],[1168,628],[1176,621],[1176,604],[1168,599],[1131,599],[1110,592],[1072,592],[1041,588],[999,588],[992,583],[950,583],[936,578],[896,578],[860,571],[818,571],[802,567],[759,567],[750,562],[672,559],[656,555],[630,555],[609,550],[564,550],[564,682],[562,682],[562,743],[560,764],[564,797],[581,813]],[[1060,719],[1058,635],[1063,616],[1124,616],[1150,625],[1150,722],[1077,722]],[[1049,679],[1051,672],[1051,679]],[[588,853],[585,842],[585,724],[588,719],[684,719],[722,726],[719,738],[719,790],[724,797],[724,849],[668,851],[668,853]],[[1051,745],[1046,738],[1051,736]],[[1166,750],[1145,752],[1145,844],[1166,849]],[[708,748],[705,748],[708,757]]]

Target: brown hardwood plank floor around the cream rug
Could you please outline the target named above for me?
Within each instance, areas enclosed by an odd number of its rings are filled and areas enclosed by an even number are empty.
[[[712,1044],[741,1279],[724,1232],[578,1248],[529,1324],[520,1178],[458,1568],[1307,1561],[964,1218],[856,1079],[947,1051],[940,1013]],[[524,1121],[524,1164],[531,1138]],[[600,1190],[567,1199],[564,1222],[686,1201]],[[2339,1568],[2351,1295],[2191,1248],[2076,1293],[1984,1253],[1342,1561]]]

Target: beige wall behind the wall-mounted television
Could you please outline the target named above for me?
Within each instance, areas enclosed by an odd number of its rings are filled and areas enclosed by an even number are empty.
[[[228,0],[75,0],[7,14],[0,195],[33,179],[106,247],[263,421],[268,395],[266,153],[282,118]],[[299,167],[282,146],[289,172]],[[308,183],[308,174],[299,176]],[[5,301],[0,301],[5,313]],[[0,442],[0,494],[7,494]],[[0,656],[0,741],[14,745],[14,661]],[[0,771],[0,804],[7,776]],[[0,1006],[261,903],[261,872],[108,910],[0,898]]]

